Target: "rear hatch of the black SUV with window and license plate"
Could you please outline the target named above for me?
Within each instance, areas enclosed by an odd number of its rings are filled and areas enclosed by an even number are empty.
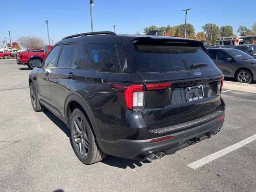
[[[150,130],[179,130],[221,115],[222,72],[201,42],[139,39],[125,47],[146,88],[142,115]]]

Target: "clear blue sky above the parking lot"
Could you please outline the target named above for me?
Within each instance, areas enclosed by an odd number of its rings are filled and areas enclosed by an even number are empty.
[[[256,21],[255,12],[248,11],[248,7],[243,9],[242,4],[238,0],[94,0],[94,31],[113,30],[114,24],[117,34],[136,34],[151,25],[175,26],[185,21],[181,10],[192,8],[188,12],[188,23],[196,32],[202,31],[206,23],[215,23],[233,26],[236,34],[239,26],[250,28]],[[49,20],[50,40],[56,42],[65,36],[90,32],[89,0],[8,2],[1,8],[0,45],[4,37],[8,38],[8,31],[12,42],[20,36],[38,36],[48,42],[46,19]]]

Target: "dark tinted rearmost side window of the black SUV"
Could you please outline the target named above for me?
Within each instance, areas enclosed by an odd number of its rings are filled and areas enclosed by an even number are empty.
[[[87,44],[86,46],[96,71],[121,72],[115,44]]]

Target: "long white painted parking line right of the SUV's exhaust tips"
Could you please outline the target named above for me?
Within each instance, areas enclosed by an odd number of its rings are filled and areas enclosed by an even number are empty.
[[[234,145],[231,145],[231,146],[229,146],[225,149],[222,149],[222,150],[217,151],[213,154],[210,154],[210,155],[208,155],[208,156],[206,156],[206,157],[204,157],[200,160],[197,160],[193,163],[190,163],[187,166],[189,166],[192,169],[196,169],[196,168],[198,168],[200,166],[203,166],[204,164],[209,163],[209,162],[211,162],[211,161],[213,161],[213,160],[215,160],[215,159],[217,159],[221,156],[224,156],[224,155],[226,155],[226,154],[228,154],[228,153],[230,153],[230,152],[232,152],[232,151],[234,151],[234,150],[236,150],[236,149],[238,149],[238,148],[240,148],[240,147],[242,147],[242,146],[244,146],[244,145],[246,145],[246,144],[248,144],[248,143],[250,143],[254,140],[256,140],[256,134],[254,134],[254,135],[252,135],[252,136],[250,136],[250,137],[248,137],[248,138],[246,138],[246,139],[244,139],[244,140],[242,140],[242,141],[240,141],[240,142],[238,142]]]

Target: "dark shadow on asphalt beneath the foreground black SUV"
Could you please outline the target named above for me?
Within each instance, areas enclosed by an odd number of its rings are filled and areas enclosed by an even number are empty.
[[[67,127],[67,125],[62,122],[58,117],[56,117],[52,112],[49,110],[44,110],[43,113],[52,121],[58,128],[60,128],[66,136],[70,139],[70,144],[71,144],[71,137],[70,137],[70,130]],[[72,146],[73,148],[73,146]],[[74,148],[73,148],[74,150]],[[113,167],[118,167],[122,169],[126,169],[127,167],[130,167],[131,169],[136,168],[136,166],[141,167],[143,164],[150,163],[150,161],[145,160],[143,162],[137,161],[137,160],[132,160],[132,159],[126,159],[126,158],[120,158],[112,155],[107,155],[104,160],[101,161],[101,163],[104,163],[109,166]]]

